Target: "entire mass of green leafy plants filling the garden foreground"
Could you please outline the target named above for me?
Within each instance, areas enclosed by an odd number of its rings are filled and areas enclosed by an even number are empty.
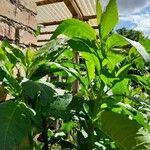
[[[1,43],[0,81],[12,98],[0,104],[0,149],[149,149],[150,40],[110,34],[116,0],[104,11],[97,0],[96,11],[98,35],[69,19],[36,51]]]

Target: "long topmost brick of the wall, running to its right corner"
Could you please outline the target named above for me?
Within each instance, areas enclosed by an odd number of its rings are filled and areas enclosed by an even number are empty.
[[[0,0],[0,15],[29,26],[32,29],[36,29],[37,27],[36,17],[34,15],[31,15],[26,10],[21,11],[17,6],[10,3],[9,0]]]

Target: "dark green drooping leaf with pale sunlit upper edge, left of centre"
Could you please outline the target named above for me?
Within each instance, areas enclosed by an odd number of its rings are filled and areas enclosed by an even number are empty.
[[[23,95],[30,97],[35,102],[39,100],[42,106],[47,106],[54,101],[53,96],[56,94],[56,91],[50,83],[27,80],[22,83],[22,87]]]

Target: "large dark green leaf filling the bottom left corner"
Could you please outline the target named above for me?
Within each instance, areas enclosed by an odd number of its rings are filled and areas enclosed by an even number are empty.
[[[29,148],[29,132],[34,112],[24,103],[8,101],[0,104],[0,149]]]

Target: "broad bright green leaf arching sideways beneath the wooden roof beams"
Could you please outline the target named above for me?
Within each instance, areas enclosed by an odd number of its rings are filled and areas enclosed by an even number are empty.
[[[63,21],[63,23],[61,23],[55,30],[51,39],[55,39],[60,34],[64,34],[70,38],[76,37],[90,41],[96,39],[95,30],[87,23],[77,19],[68,19]]]

